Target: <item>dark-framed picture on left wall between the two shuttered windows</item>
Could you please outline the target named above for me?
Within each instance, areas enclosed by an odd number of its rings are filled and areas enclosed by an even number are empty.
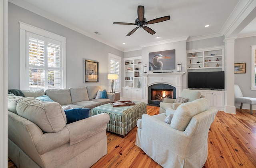
[[[84,60],[84,83],[99,82],[99,63],[92,60]]]

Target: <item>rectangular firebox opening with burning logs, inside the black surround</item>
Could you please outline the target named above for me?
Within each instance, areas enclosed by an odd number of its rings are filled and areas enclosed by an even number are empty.
[[[151,89],[151,100],[163,101],[164,98],[173,98],[172,89]]]

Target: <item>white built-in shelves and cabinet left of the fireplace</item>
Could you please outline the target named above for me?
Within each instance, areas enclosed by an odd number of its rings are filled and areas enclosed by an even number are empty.
[[[140,100],[142,98],[142,57],[124,58],[124,87],[122,89],[123,98],[130,100]],[[140,87],[137,83],[140,81]]]

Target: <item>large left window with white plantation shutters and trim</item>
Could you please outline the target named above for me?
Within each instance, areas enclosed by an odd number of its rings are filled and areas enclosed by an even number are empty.
[[[20,22],[20,89],[65,88],[66,38]]]

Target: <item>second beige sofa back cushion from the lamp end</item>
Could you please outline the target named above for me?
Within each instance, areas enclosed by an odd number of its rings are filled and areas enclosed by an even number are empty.
[[[72,103],[89,100],[86,87],[69,88]]]

